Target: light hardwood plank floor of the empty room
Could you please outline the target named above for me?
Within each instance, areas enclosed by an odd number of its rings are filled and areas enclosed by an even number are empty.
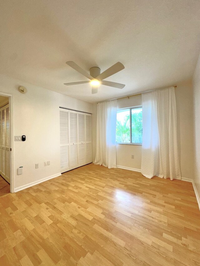
[[[89,164],[0,198],[0,265],[200,265],[189,182]]]

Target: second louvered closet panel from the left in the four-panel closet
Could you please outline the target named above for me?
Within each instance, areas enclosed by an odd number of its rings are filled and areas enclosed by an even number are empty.
[[[78,167],[78,113],[69,110],[70,170]]]

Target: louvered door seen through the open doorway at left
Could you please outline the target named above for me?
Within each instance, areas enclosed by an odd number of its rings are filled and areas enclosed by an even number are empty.
[[[0,174],[10,183],[10,118],[9,104],[0,108]]]

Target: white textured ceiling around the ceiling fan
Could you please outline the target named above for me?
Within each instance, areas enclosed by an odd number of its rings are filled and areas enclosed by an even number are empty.
[[[88,102],[176,85],[191,78],[200,50],[199,0],[1,0],[0,72]],[[125,69],[91,94],[89,72]]]

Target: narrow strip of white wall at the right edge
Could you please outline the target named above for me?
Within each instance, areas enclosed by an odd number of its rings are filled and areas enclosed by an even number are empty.
[[[194,183],[200,195],[200,55],[193,75]]]

